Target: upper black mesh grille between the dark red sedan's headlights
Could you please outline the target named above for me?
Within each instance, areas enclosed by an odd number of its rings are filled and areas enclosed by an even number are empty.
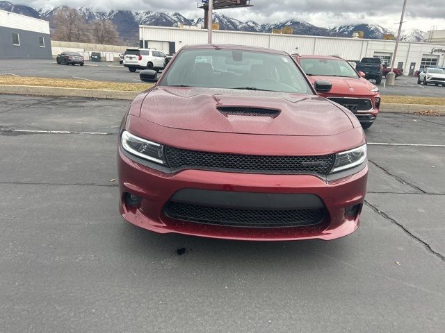
[[[334,163],[334,155],[267,156],[236,155],[189,151],[167,146],[165,154],[174,170],[203,169],[242,173],[317,173],[326,176]]]

